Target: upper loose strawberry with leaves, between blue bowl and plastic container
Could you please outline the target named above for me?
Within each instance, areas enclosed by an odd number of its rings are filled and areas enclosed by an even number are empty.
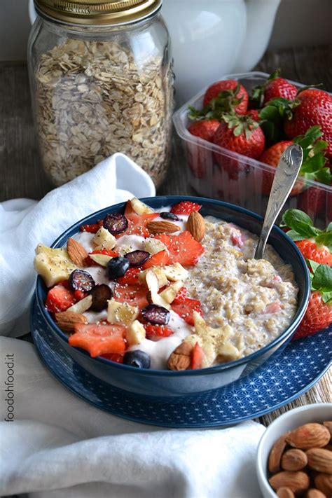
[[[296,243],[304,258],[332,267],[332,223],[325,230],[320,230],[300,209],[287,209],[282,216],[282,224],[291,228],[287,235]]]

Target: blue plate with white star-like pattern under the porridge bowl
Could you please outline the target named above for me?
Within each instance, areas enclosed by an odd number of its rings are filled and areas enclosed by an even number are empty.
[[[244,379],[165,403],[120,391],[85,372],[48,331],[36,301],[32,304],[32,337],[47,368],[74,394],[118,417],[162,427],[223,426],[260,417],[310,389],[328,370],[332,358],[330,326],[291,343]]]

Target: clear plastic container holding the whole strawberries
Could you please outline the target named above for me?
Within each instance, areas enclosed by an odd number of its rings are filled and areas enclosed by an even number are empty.
[[[267,77],[267,73],[253,71],[228,74],[220,79],[239,80],[250,91]],[[298,88],[303,86],[296,81],[291,83]],[[206,88],[181,106],[173,116],[186,154],[188,183],[200,195],[231,202],[263,215],[268,203],[266,184],[270,183],[268,179],[275,174],[275,168],[195,137],[187,130],[191,123],[188,106],[201,109]],[[284,209],[302,209],[312,217],[316,226],[326,226],[332,220],[332,187],[309,179],[303,179],[303,183],[304,190],[290,196]]]

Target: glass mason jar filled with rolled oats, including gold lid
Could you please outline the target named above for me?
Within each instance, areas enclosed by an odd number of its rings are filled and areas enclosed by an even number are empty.
[[[59,186],[123,152],[159,186],[173,109],[162,0],[34,2],[29,78],[48,177]]]

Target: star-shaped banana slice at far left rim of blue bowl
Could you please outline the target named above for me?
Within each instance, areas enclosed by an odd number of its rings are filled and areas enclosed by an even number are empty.
[[[34,256],[34,268],[43,277],[46,286],[52,287],[62,280],[67,280],[77,266],[69,258],[67,249],[51,249],[38,244]]]

